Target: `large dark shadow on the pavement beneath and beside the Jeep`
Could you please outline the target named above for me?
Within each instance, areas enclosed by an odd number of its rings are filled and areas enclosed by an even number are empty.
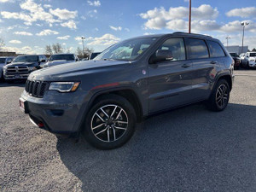
[[[201,104],[151,117],[114,150],[59,139],[84,191],[255,191],[256,106]]]

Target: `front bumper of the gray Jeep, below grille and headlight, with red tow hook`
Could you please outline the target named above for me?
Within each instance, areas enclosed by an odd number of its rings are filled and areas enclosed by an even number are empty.
[[[24,112],[34,125],[55,134],[72,135],[79,131],[84,120],[86,103],[79,91],[59,93],[46,91],[43,98],[30,96],[24,90],[20,102],[24,103]]]

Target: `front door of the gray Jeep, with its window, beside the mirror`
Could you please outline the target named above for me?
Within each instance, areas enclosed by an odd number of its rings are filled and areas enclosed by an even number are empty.
[[[149,113],[190,102],[192,63],[186,59],[183,38],[168,38],[158,49],[171,50],[173,59],[148,64]]]

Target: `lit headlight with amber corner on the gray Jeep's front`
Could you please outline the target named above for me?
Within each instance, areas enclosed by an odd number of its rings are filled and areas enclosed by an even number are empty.
[[[74,92],[79,88],[80,82],[52,82],[49,84],[49,90],[60,92]]]

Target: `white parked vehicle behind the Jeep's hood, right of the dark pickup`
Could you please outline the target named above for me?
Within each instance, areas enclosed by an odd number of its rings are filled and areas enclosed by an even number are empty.
[[[44,67],[58,66],[65,63],[79,61],[79,57],[74,54],[54,54],[49,57],[49,60]]]

